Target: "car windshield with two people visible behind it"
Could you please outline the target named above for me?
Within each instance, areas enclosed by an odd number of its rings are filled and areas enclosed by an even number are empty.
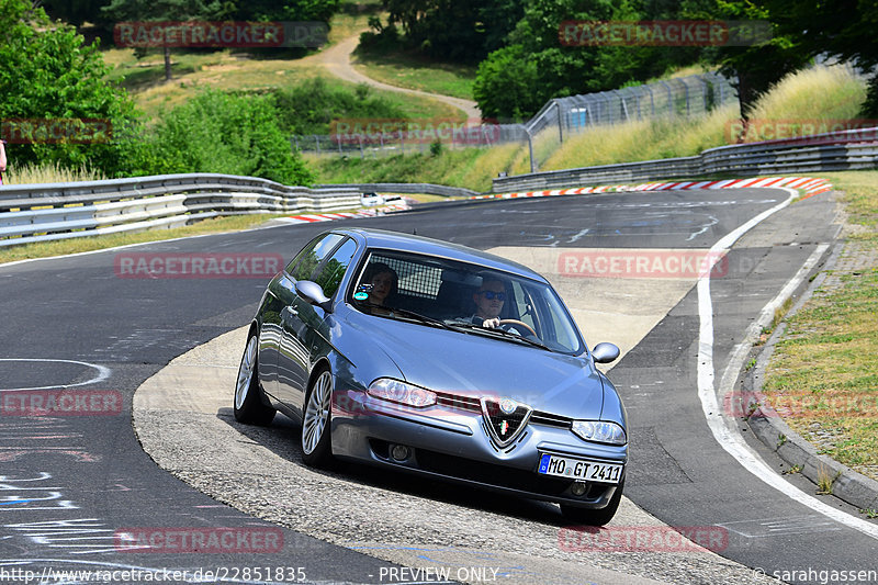
[[[378,317],[542,350],[571,355],[585,350],[567,310],[549,284],[483,266],[371,250],[347,300],[360,312]],[[485,327],[486,320],[494,327]]]

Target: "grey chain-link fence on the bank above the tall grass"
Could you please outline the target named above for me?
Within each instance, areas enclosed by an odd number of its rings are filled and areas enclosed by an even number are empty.
[[[612,91],[586,93],[549,101],[524,124],[460,123],[454,128],[447,121],[430,127],[413,122],[418,130],[394,132],[354,132],[333,135],[299,135],[290,139],[303,153],[361,158],[407,153],[425,153],[435,144],[441,148],[491,147],[503,144],[527,145],[531,169],[537,170],[566,136],[593,126],[620,124],[657,117],[690,117],[738,100],[731,82],[719,74],[708,72],[666,79]],[[440,128],[439,126],[443,126]],[[539,137],[536,147],[534,138]]]

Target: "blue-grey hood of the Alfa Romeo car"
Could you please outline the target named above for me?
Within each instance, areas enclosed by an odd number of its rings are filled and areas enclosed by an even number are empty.
[[[589,360],[393,319],[371,325],[370,342],[407,382],[466,396],[510,397],[571,418],[600,418],[604,386]]]

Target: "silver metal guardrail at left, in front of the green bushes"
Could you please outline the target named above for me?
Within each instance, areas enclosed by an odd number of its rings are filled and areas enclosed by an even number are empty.
[[[359,205],[356,187],[308,189],[215,173],[4,185],[0,247],[178,227],[219,215],[319,213]]]

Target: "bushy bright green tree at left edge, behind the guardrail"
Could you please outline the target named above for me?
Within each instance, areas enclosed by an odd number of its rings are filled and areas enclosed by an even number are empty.
[[[134,105],[124,90],[104,80],[97,45],[85,45],[72,26],[52,22],[30,0],[0,0],[0,120],[54,121],[70,128],[83,119],[124,127]],[[110,135],[77,136],[15,145],[15,165],[92,165],[113,172],[121,164]]]

